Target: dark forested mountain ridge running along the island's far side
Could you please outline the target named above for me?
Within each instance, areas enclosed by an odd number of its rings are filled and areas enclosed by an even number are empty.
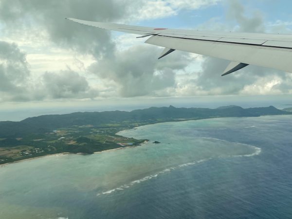
[[[0,138],[18,137],[30,133],[51,132],[56,128],[121,123],[124,121],[151,124],[157,122],[176,121],[178,119],[204,119],[215,117],[245,117],[260,115],[292,114],[292,112],[278,110],[273,106],[243,109],[238,106],[205,108],[175,108],[151,107],[133,111],[104,111],[104,112],[75,112],[63,115],[42,115],[24,119],[20,122],[0,122]]]

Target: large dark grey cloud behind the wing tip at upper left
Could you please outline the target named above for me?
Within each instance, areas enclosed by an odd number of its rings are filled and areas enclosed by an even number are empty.
[[[0,20],[7,27],[22,25],[22,31],[37,26],[40,31],[46,31],[58,46],[98,57],[110,55],[114,49],[109,32],[79,25],[65,18],[113,21],[126,14],[126,6],[118,0],[14,0],[13,3],[11,0],[1,0]]]

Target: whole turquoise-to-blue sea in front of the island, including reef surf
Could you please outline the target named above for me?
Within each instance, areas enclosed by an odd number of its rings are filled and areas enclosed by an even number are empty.
[[[292,218],[291,121],[147,125],[118,133],[142,146],[7,164],[0,218]]]

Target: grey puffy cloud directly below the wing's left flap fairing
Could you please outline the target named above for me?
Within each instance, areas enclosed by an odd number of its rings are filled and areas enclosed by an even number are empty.
[[[103,58],[89,68],[102,78],[119,86],[121,96],[132,97],[154,94],[155,91],[175,86],[175,70],[184,69],[189,58],[174,52],[158,60],[162,49],[139,45],[116,52],[112,58]]]

